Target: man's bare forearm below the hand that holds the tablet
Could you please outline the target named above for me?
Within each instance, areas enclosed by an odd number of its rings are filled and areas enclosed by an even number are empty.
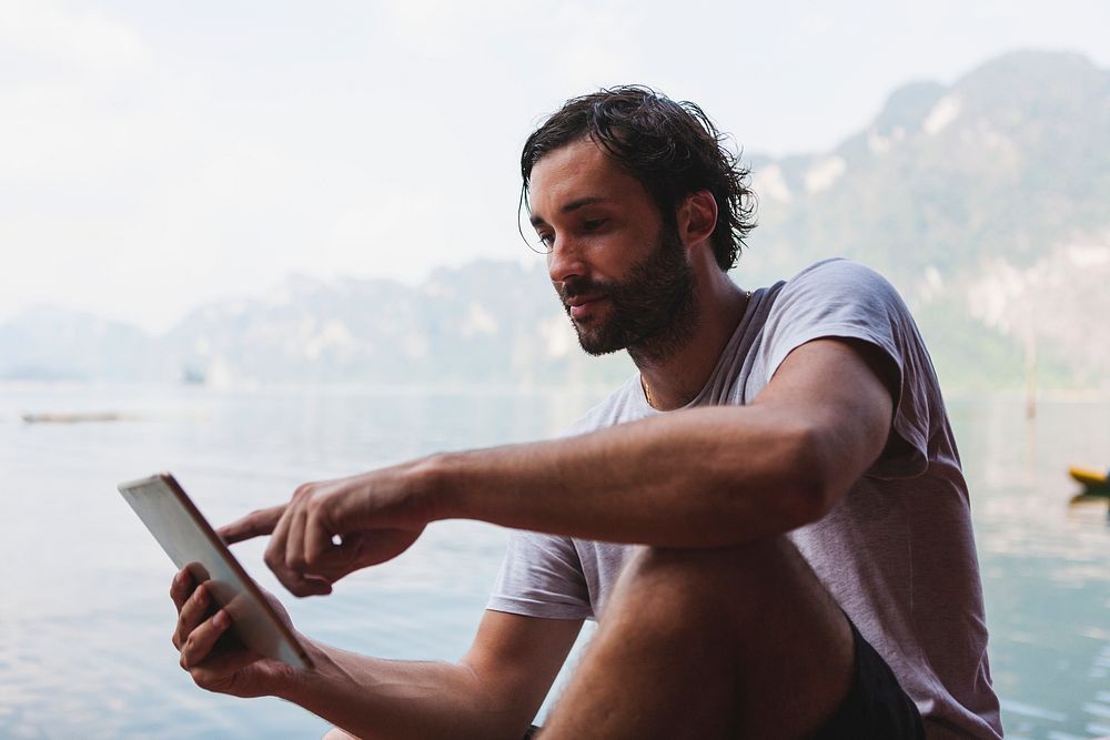
[[[291,675],[274,696],[363,740],[515,740],[526,727],[526,719],[498,708],[465,665],[382,660],[307,643],[314,668]]]

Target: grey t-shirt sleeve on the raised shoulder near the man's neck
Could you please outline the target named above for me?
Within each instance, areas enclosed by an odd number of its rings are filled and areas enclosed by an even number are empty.
[[[764,335],[765,377],[795,348],[819,338],[850,338],[878,347],[897,369],[891,438],[868,475],[908,478],[928,467],[932,402],[939,386],[909,310],[874,270],[846,260],[818,263],[779,293]]]

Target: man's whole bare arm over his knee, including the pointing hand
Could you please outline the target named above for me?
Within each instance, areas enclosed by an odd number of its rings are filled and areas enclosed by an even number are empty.
[[[844,496],[887,443],[892,376],[869,345],[818,339],[791,352],[748,406],[306,484],[221,535],[272,533],[266,564],[297,596],[395,557],[436,519],[659,547],[738,545],[815,521]]]

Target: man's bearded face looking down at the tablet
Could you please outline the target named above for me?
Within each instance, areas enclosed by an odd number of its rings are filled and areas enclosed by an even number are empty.
[[[694,273],[638,180],[583,140],[536,162],[531,202],[583,349],[662,359],[685,344],[696,321]]]

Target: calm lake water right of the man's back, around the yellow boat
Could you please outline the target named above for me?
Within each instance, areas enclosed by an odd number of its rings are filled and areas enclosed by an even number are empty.
[[[1110,649],[1106,501],[1072,504],[1068,466],[1110,457],[1107,405],[953,408],[1008,737],[1110,734],[1098,714]]]

